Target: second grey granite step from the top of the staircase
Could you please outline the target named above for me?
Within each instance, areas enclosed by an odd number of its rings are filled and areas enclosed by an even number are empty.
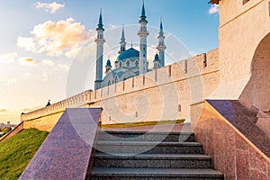
[[[203,154],[197,142],[97,141],[96,149],[107,154]]]

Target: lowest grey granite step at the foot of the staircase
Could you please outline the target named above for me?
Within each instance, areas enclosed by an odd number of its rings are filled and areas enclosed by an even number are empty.
[[[223,175],[212,169],[191,168],[103,168],[94,167],[91,179],[144,180],[144,179],[185,179],[185,180],[223,180]]]

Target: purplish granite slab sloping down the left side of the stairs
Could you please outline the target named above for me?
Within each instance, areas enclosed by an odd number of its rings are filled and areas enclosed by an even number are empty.
[[[67,109],[20,179],[85,179],[100,113],[100,108]]]

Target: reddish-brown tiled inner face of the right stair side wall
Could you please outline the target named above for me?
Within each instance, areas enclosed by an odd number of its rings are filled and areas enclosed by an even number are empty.
[[[269,157],[209,103],[203,103],[194,132],[205,154],[212,157],[214,168],[223,172],[226,180],[270,179]]]

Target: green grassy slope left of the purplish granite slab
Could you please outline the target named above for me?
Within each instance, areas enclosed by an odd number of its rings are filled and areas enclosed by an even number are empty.
[[[22,130],[0,142],[0,179],[18,179],[48,134],[35,129]]]

